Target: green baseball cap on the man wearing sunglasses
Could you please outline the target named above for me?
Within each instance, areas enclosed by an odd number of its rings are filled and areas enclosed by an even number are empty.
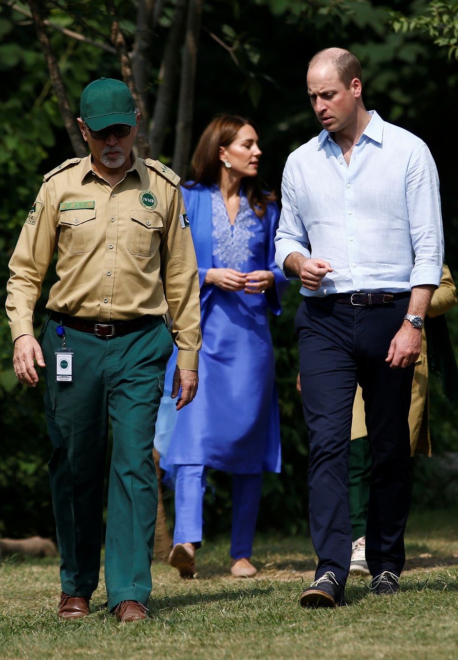
[[[137,125],[135,104],[127,84],[114,78],[90,82],[81,94],[81,119],[93,131],[115,123]]]

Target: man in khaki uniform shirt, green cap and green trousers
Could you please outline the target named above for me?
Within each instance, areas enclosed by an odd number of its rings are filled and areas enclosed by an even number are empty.
[[[59,616],[89,613],[98,585],[108,417],[113,453],[105,579],[119,620],[145,618],[156,523],[154,425],[172,339],[177,408],[197,390],[199,277],[180,179],[133,153],[139,112],[123,82],[100,79],[78,119],[91,155],[44,177],[11,257],[7,312],[21,383],[46,380],[49,477],[61,553]],[[57,246],[57,282],[34,339],[33,313]]]

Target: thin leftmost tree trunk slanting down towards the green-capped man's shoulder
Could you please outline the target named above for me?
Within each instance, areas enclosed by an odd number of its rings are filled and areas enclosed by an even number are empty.
[[[71,145],[75,154],[79,158],[84,158],[84,156],[87,156],[88,154],[86,144],[82,139],[81,131],[75,121],[73,112],[71,111],[67,93],[65,92],[65,86],[61,78],[61,72],[59,71],[59,64],[57,63],[57,59],[55,58],[51,44],[49,43],[48,34],[46,33],[46,28],[43,23],[41,4],[40,0],[28,0],[28,5],[32,12],[32,18],[35,24],[36,34],[42,46],[46,63],[48,64],[49,77],[53,84],[55,96],[57,97],[57,104],[59,105],[59,110],[63,117],[67,133],[69,134]]]

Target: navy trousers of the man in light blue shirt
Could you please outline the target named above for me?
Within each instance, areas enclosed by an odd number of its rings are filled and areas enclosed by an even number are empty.
[[[372,455],[366,561],[373,576],[401,574],[410,508],[409,409],[414,365],[385,362],[410,294],[386,305],[357,307],[336,296],[304,298],[296,314],[300,381],[310,438],[310,533],[316,577],[332,571],[346,583],[352,527],[348,455],[356,383],[362,387]]]

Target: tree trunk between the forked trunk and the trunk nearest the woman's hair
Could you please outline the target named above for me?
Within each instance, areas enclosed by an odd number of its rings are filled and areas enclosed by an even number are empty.
[[[174,20],[168,33],[164,59],[160,67],[159,86],[154,105],[154,117],[149,131],[150,154],[159,158],[164,145],[170,110],[174,96],[176,72],[180,56],[180,46],[183,41],[187,0],[177,0]]]

